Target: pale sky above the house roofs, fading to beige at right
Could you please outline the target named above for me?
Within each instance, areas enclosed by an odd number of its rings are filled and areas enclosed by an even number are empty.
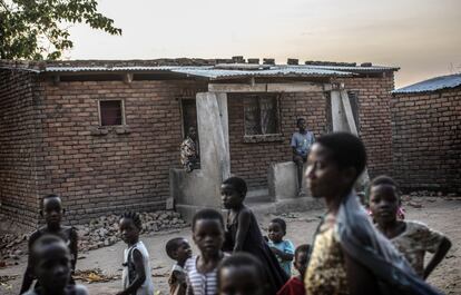
[[[70,59],[287,58],[461,72],[461,0],[99,0],[122,36],[70,29]]]

